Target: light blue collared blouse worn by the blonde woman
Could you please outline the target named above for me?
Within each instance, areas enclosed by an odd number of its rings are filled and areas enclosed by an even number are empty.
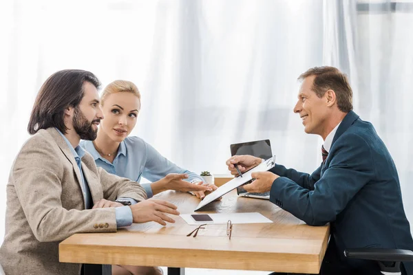
[[[170,162],[140,137],[126,137],[120,142],[113,164],[100,156],[92,141],[82,140],[81,146],[94,157],[96,166],[133,181],[140,182],[142,177],[149,181],[158,181],[169,173],[188,174],[189,178],[185,180],[189,182],[203,181],[199,175]],[[150,183],[142,184],[142,187],[148,198],[153,197]]]

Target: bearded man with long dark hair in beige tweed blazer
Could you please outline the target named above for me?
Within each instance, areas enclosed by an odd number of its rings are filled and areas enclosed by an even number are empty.
[[[68,69],[50,76],[36,97],[28,124],[32,137],[7,184],[0,263],[8,275],[79,274],[80,264],[59,263],[59,242],[68,236],[116,232],[132,222],[166,225],[174,222],[166,213],[179,214],[167,201],[145,201],[140,184],[97,168],[79,146],[81,139],[96,138],[103,118],[99,85],[91,72]]]

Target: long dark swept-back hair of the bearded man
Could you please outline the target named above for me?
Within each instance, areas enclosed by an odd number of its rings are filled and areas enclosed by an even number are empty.
[[[34,101],[28,124],[30,135],[49,127],[66,133],[65,109],[77,107],[81,102],[85,81],[92,83],[96,89],[100,86],[94,74],[81,69],[64,69],[47,78]]]

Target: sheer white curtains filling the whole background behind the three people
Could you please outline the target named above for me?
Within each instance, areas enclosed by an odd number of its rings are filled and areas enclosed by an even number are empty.
[[[29,137],[34,97],[50,74],[67,68],[87,69],[103,86],[136,83],[142,111],[132,134],[184,168],[226,173],[229,144],[269,138],[279,163],[310,173],[321,162],[321,140],[306,135],[293,113],[297,76],[335,65],[350,76],[354,111],[388,145],[413,221],[413,13],[357,7],[332,0],[2,1],[0,243],[8,173]]]

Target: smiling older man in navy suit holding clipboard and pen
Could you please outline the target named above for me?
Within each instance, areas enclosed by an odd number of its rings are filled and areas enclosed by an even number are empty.
[[[276,164],[244,186],[270,191],[270,200],[308,225],[330,223],[331,237],[320,274],[380,274],[374,261],[346,259],[348,248],[413,250],[396,166],[370,122],[352,111],[352,89],[335,67],[314,67],[302,80],[294,112],[306,133],[321,135],[323,162],[311,175]],[[226,164],[233,175],[260,164],[251,155]],[[403,263],[402,274],[413,274]]]

